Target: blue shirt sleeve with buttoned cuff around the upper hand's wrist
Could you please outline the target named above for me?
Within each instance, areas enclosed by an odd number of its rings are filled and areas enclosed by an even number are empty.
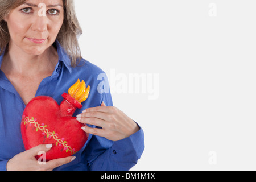
[[[86,150],[88,169],[92,171],[127,171],[141,158],[144,133],[137,133],[117,142],[93,135]]]

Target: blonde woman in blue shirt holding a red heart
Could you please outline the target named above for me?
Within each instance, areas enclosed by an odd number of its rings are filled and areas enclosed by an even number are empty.
[[[143,130],[113,107],[108,78],[100,68],[81,58],[72,0],[0,0],[0,170],[128,170],[144,150]],[[40,165],[39,151],[25,151],[20,134],[22,113],[35,96],[53,97],[77,81],[91,86],[88,100],[77,109],[77,121],[89,134],[74,156]],[[102,86],[102,82],[104,87]],[[99,86],[101,85],[101,86]],[[101,90],[98,90],[101,89]],[[103,91],[102,91],[103,90]],[[100,92],[99,92],[100,91]]]

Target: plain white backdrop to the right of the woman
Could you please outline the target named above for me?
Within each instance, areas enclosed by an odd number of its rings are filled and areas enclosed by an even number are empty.
[[[110,89],[118,76],[159,74],[156,100],[148,90],[112,94],[145,133],[132,170],[256,169],[255,0],[75,5],[82,56],[107,73],[114,69]]]

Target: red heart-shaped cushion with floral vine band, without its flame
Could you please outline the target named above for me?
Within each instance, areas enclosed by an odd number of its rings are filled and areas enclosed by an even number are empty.
[[[71,156],[87,140],[86,133],[81,129],[84,125],[72,117],[82,105],[67,93],[63,97],[60,106],[51,97],[35,97],[23,112],[21,132],[24,147],[28,150],[39,144],[53,144],[51,150],[46,152],[46,160]]]

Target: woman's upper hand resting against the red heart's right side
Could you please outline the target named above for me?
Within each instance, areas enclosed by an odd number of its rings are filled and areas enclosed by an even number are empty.
[[[105,137],[112,141],[124,139],[139,131],[139,126],[133,119],[127,117],[125,113],[116,107],[107,107],[104,102],[100,107],[82,111],[82,114],[77,115],[77,121],[101,127],[101,129],[98,129],[84,126],[82,129],[86,133]]]

